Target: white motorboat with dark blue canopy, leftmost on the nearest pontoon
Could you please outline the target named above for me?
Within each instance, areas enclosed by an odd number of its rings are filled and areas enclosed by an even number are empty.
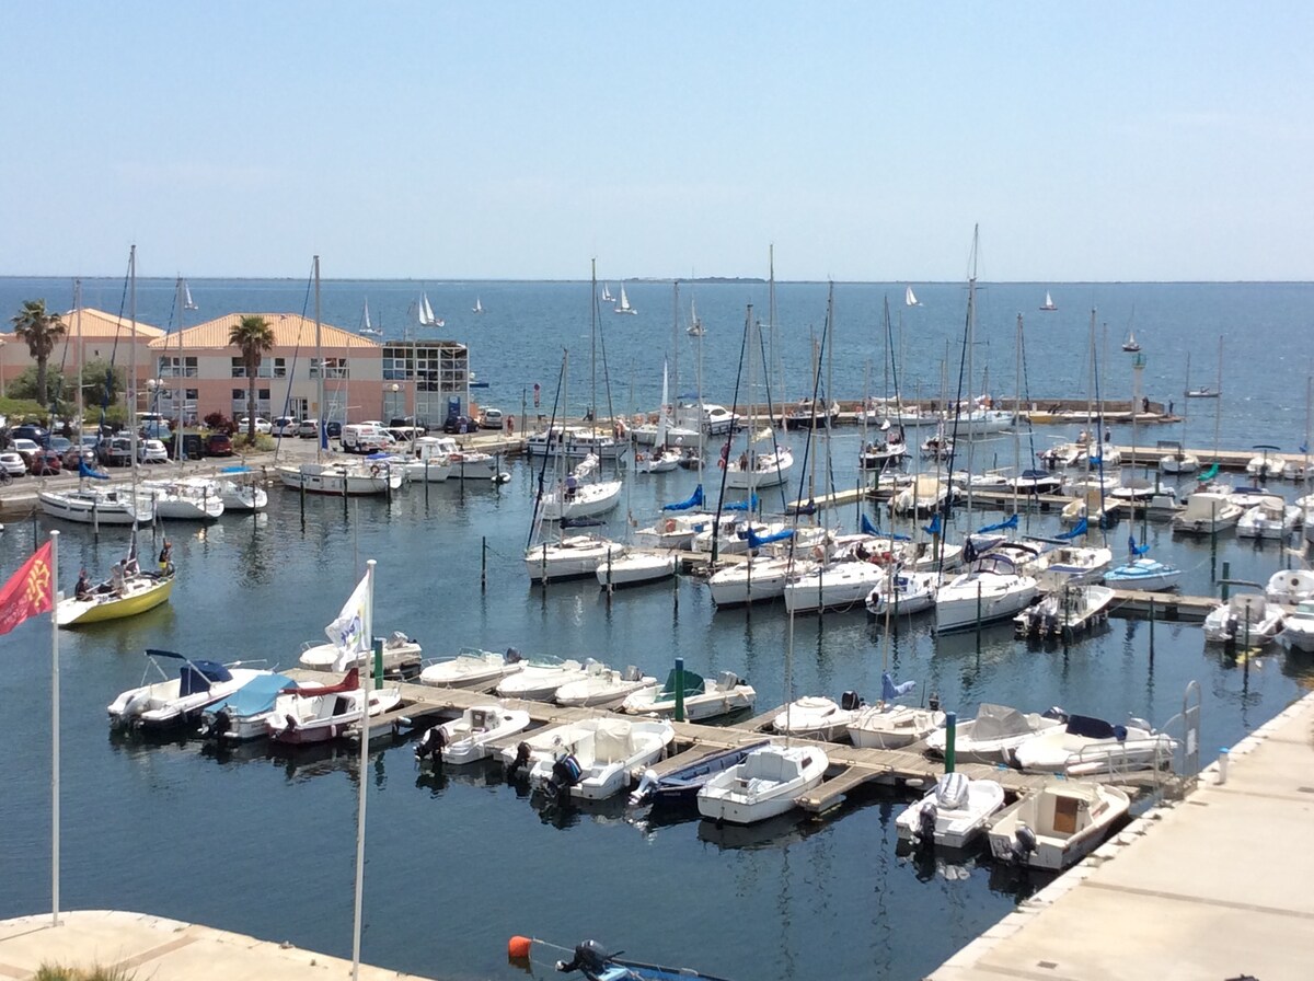
[[[145,729],[166,729],[194,720],[208,705],[233,695],[269,671],[217,661],[192,659],[172,650],[147,647],[146,657],[164,680],[129,688],[109,704],[109,721]],[[177,663],[170,678],[159,661]],[[147,667],[147,671],[150,667]]]

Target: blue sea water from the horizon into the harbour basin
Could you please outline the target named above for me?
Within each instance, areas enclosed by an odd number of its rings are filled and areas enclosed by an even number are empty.
[[[678,372],[681,393],[700,390],[723,404],[750,401],[745,381],[738,398],[735,386],[745,323],[758,320],[770,339],[758,362],[769,366],[762,374],[773,401],[815,390],[846,401],[894,394],[895,374],[905,397],[953,397],[959,385],[964,284],[913,284],[921,306],[908,307],[903,284],[834,284],[830,299],[829,284],[782,282],[774,318],[765,282],[683,282],[678,301],[669,281],[624,285],[637,315],[595,307],[589,282],[325,280],[321,316],[355,330],[368,298],[373,323],[389,338],[466,343],[473,370],[487,383],[481,402],[516,414],[533,415],[535,385],[551,404],[565,352],[569,415],[582,414],[593,390],[603,412],[654,408],[664,362]],[[620,282],[610,286],[619,295]],[[1058,311],[1037,309],[1046,290]],[[231,311],[314,313],[309,280],[193,280],[191,293],[200,310],[181,311],[184,326]],[[443,328],[415,324],[422,293],[445,319]],[[88,306],[126,314],[126,297],[121,281],[83,281]],[[0,309],[17,311],[33,298],[68,309],[72,282],[0,280]],[[1133,356],[1121,344],[1134,331],[1146,364],[1143,394],[1190,411],[1181,424],[1135,436],[1114,427],[1114,441],[1184,437],[1208,449],[1217,439],[1223,449],[1265,443],[1297,452],[1307,440],[1311,284],[979,284],[976,298],[964,393],[989,393],[1007,404],[1021,390],[1026,402],[1043,403],[1084,398],[1099,385],[1109,398],[1130,398]],[[476,299],[481,315],[472,313]],[[139,319],[176,326],[172,302],[172,278],[137,282]],[[691,303],[706,326],[700,340],[686,332]],[[1218,386],[1219,377],[1221,398],[1183,398],[1188,386]],[[762,376],[757,382],[761,394],[752,399],[765,401]],[[1037,427],[983,441],[979,466],[1025,461],[1076,428]],[[816,435],[809,443],[808,433],[782,439],[816,461],[819,492],[855,486],[863,439],[857,428],[837,429],[829,443]],[[527,655],[636,665],[656,676],[681,657],[706,676],[748,678],[759,712],[787,693],[838,699],[857,691],[871,699],[886,670],[917,682],[908,697],[934,693],[961,717],[983,701],[1026,710],[1056,705],[1180,731],[1180,713],[1198,700],[1208,763],[1314,683],[1310,659],[1280,646],[1240,658],[1206,645],[1198,625],[1112,620],[1067,647],[1029,647],[1013,638],[1010,624],[937,640],[926,620],[887,634],[861,609],[799,617],[779,605],[717,611],[694,578],[611,596],[594,580],[531,587],[522,556],[535,534],[540,471],[528,460],[507,460],[505,469],[511,479],[501,486],[413,485],[390,503],[302,502],[275,487],[268,511],[255,517],[142,529],[143,554],[158,552],[164,533],[173,542],[180,571],[172,601],[59,634],[63,907],[141,910],[350,957],[363,783],[363,959],[435,978],[510,980],[527,969],[549,977],[557,947],[593,938],[640,960],[740,981],[911,981],[1047,881],[980,854],[901,854],[894,818],[909,798],[890,788],[850,795],[821,818],[799,813],[763,826],[716,827],[696,814],[628,809],[623,800],[547,808],[497,766],[418,766],[405,741],[372,750],[361,774],[353,747],[252,745],[215,754],[187,735],[148,741],[108,726],[105,707],[114,696],[151,680],[147,647],[294,666],[302,645],[323,640],[368,559],[377,561],[376,633],[402,630],[426,657],[514,646]],[[603,531],[624,537],[662,503],[687,498],[698,479],[687,470],[627,474],[624,500]],[[703,482],[715,498],[715,478],[704,474]],[[1300,492],[1285,487],[1290,498]],[[765,510],[781,510],[779,491],[763,498]],[[890,527],[875,504],[848,506],[824,520],[851,529],[863,515]],[[999,517],[955,520],[964,531],[968,521]],[[79,567],[97,574],[127,548],[120,531],[97,538],[41,516],[4,520],[0,573],[8,575],[58,527],[66,590]],[[1024,529],[1059,531],[1050,515],[1024,517]],[[1183,591],[1193,595],[1218,595],[1225,566],[1236,582],[1263,583],[1301,561],[1273,542],[1254,546],[1230,533],[1173,541],[1166,525],[1139,521],[1108,532],[1116,554],[1125,553],[1129,534],[1180,565]],[[16,917],[51,902],[49,619],[0,638],[0,917]],[[528,968],[507,960],[512,935],[543,940]]]

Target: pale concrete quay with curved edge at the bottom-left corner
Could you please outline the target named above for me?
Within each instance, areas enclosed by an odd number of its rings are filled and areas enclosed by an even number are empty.
[[[0,977],[32,977],[42,964],[122,968],[151,981],[330,981],[351,977],[351,961],[240,934],[147,917],[88,910],[0,923]],[[365,981],[415,978],[360,965]],[[415,978],[423,981],[423,978]]]

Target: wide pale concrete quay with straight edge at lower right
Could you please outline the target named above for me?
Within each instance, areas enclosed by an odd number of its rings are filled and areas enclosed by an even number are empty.
[[[1226,781],[1209,767],[930,977],[1306,981],[1311,838],[1314,695],[1233,747]]]

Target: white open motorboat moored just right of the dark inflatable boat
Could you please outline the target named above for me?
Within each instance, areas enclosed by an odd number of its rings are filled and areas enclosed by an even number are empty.
[[[698,813],[717,822],[752,825],[784,814],[825,779],[830,759],[817,746],[767,745],[698,792]]]

